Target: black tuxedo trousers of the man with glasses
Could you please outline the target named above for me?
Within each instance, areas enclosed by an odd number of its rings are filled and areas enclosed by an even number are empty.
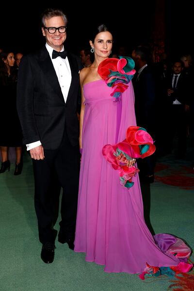
[[[45,159],[32,160],[34,170],[34,205],[38,219],[39,240],[43,244],[54,242],[57,231],[53,229],[61,201],[60,230],[68,236],[75,234],[79,188],[79,146],[71,146],[65,133],[62,145],[56,150],[44,150]]]

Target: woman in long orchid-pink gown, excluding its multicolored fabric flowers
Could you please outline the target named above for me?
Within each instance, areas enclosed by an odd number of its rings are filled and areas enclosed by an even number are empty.
[[[138,174],[133,177],[133,187],[125,188],[118,171],[102,155],[103,146],[123,141],[127,128],[136,126],[132,83],[122,93],[116,132],[120,105],[113,102],[113,88],[97,73],[112,44],[112,34],[104,25],[98,27],[90,41],[95,61],[80,73],[82,156],[74,251],[85,252],[86,261],[105,265],[106,272],[140,274],[145,272],[146,263],[168,267],[178,266],[180,260],[159,248],[145,224]]]

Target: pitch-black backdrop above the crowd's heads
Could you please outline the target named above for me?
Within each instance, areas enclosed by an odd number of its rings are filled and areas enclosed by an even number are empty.
[[[131,52],[135,45],[149,44],[153,41],[152,31],[156,21],[157,1],[160,0],[117,1],[118,5],[111,6],[111,1],[91,0],[82,1],[78,5],[69,3],[70,1],[68,4],[59,5],[58,8],[65,12],[69,21],[65,46],[79,54],[80,49],[88,45],[90,31],[101,23],[105,23],[113,32],[114,50],[120,45],[127,45]],[[191,7],[187,1],[179,6],[175,1],[165,2],[167,50],[171,54],[192,52],[194,46]],[[49,6],[49,4],[38,6],[32,1],[25,6],[18,4],[13,6],[10,2],[6,5],[1,4],[0,48],[27,53],[44,45],[40,15]]]

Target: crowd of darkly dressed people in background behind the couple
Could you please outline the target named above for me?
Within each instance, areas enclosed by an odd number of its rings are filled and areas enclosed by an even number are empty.
[[[81,57],[83,67],[93,63],[93,53],[89,47],[81,48],[77,54]],[[154,63],[151,54],[147,47],[139,46],[129,51],[127,46],[122,45],[110,56],[131,56],[135,61],[136,74],[132,81],[137,125],[150,132],[157,146],[155,156],[139,161],[142,179],[147,182],[154,181],[158,156],[173,153],[176,158],[182,159],[188,144],[194,146],[192,55],[182,53],[169,57],[167,53],[162,53],[160,62]],[[15,175],[21,174],[23,167],[24,147],[16,112],[17,71],[22,56],[21,52],[14,53],[14,49],[0,49],[0,173],[10,169],[9,148],[14,147]]]

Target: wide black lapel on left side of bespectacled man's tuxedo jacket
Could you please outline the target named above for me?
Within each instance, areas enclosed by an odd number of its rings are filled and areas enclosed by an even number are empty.
[[[54,91],[57,93],[57,95],[64,102],[64,97],[63,97],[63,94],[62,94],[62,91],[61,91],[61,87],[60,87],[60,84],[59,84],[55,69],[54,69],[54,67],[52,65],[52,61],[50,59],[49,52],[46,49],[46,47],[43,48],[40,51],[38,63],[40,65],[43,73],[45,74],[49,85],[54,89]]]

